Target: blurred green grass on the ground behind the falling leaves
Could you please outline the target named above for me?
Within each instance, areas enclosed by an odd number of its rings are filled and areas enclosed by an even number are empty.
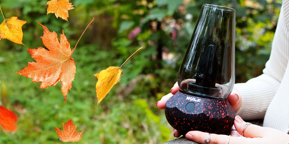
[[[7,108],[18,116],[18,130],[14,134],[0,128],[0,143],[62,143],[58,141],[54,127],[62,130],[62,123],[71,118],[78,132],[84,130],[84,140],[77,144],[164,143],[173,139],[164,111],[155,107],[159,98],[151,96],[149,88],[143,86],[153,79],[140,78],[140,86],[134,87],[129,94],[125,94],[129,84],[118,83],[97,105],[97,79],[93,74],[116,63],[108,51],[92,45],[79,46],[75,50],[75,80],[65,102],[60,82],[41,89],[37,87],[39,83],[31,82],[32,79],[14,74],[33,60],[19,47],[24,46],[0,49],[0,81],[6,86]],[[126,71],[125,65],[123,69]],[[128,79],[129,75],[123,77]]]

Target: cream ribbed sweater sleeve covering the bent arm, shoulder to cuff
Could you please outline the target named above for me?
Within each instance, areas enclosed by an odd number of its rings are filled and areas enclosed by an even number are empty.
[[[237,115],[240,115],[244,120],[264,118],[268,105],[275,96],[284,76],[289,55],[289,33],[287,26],[289,5],[287,5],[283,1],[272,43],[271,55],[263,70],[264,74],[250,79],[246,83],[234,85],[234,89],[242,96],[242,106]],[[287,16],[284,16],[284,13]]]

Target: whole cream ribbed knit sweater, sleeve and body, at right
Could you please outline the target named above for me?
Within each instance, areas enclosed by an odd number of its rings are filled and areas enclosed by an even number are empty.
[[[289,131],[289,0],[284,0],[269,60],[262,75],[235,84],[242,96],[237,112],[244,120],[264,119],[263,126]]]

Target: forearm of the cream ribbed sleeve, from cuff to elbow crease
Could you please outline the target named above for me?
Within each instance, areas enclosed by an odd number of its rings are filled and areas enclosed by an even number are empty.
[[[263,119],[279,85],[280,82],[268,74],[235,84],[232,93],[239,93],[239,97],[242,97],[242,106],[237,115],[245,120]]]

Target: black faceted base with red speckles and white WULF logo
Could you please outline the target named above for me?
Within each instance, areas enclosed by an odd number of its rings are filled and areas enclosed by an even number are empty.
[[[192,111],[186,105],[193,102]],[[227,99],[211,99],[177,92],[166,101],[168,123],[185,135],[188,131],[227,134],[234,124],[236,113]]]

